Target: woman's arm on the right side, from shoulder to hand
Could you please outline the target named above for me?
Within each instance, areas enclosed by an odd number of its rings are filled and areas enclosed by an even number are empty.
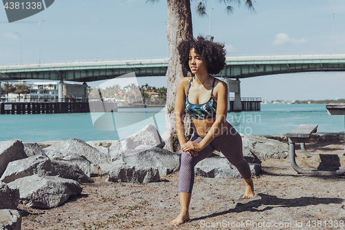
[[[228,114],[228,86],[225,82],[219,82],[218,85],[215,123],[213,123],[213,125],[208,130],[208,133],[206,134],[204,139],[199,142],[199,144],[195,142],[188,142],[186,145],[184,145],[182,151],[201,151],[201,149],[210,144],[210,142],[212,142],[215,137],[223,133],[223,129],[225,128],[224,125],[226,124],[226,115]]]

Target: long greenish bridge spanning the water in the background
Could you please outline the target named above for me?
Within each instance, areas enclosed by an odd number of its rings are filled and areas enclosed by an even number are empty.
[[[0,66],[0,82],[19,79],[93,82],[133,72],[137,77],[165,76],[167,68],[167,58],[8,65]],[[229,92],[235,92],[235,110],[241,111],[239,88],[241,78],[344,70],[345,55],[242,56],[226,57],[226,68],[215,77],[223,77],[228,83]]]

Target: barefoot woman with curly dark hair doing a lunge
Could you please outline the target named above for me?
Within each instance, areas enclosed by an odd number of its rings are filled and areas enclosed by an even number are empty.
[[[243,198],[254,193],[250,168],[242,153],[242,138],[235,128],[226,122],[228,113],[228,86],[211,74],[219,73],[225,64],[224,45],[204,37],[182,41],[177,47],[180,63],[193,77],[183,77],[177,85],[175,99],[175,126],[181,145],[181,168],[179,171],[179,202],[181,212],[170,221],[172,225],[189,220],[188,207],[194,184],[194,166],[213,151],[221,151],[236,166],[246,181]],[[184,136],[184,111],[188,112],[194,132],[190,141]]]

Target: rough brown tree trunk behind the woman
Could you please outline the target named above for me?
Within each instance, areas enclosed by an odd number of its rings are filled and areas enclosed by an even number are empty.
[[[168,1],[168,26],[166,37],[169,47],[169,66],[166,71],[167,93],[166,93],[166,146],[169,151],[180,151],[177,139],[174,108],[177,83],[184,77],[182,66],[179,64],[177,45],[184,39],[193,37],[192,13],[190,12],[190,0],[167,0]],[[184,119],[185,134],[190,135],[190,119]]]

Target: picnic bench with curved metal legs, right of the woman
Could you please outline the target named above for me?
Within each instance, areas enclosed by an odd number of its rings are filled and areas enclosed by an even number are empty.
[[[304,154],[308,157],[313,156],[314,154],[309,153],[306,151],[305,143],[311,142],[311,135],[316,133],[317,131],[317,124],[301,124],[297,126],[297,128],[293,129],[289,133],[286,133],[286,137],[288,137],[289,143],[289,157],[290,157],[290,164],[293,166],[293,169],[297,171],[297,173],[301,174],[328,174],[328,175],[342,175],[345,173],[345,167],[343,169],[339,169],[337,171],[319,171],[319,170],[307,170],[301,169],[296,164],[295,160],[295,143],[301,144],[301,149]]]

